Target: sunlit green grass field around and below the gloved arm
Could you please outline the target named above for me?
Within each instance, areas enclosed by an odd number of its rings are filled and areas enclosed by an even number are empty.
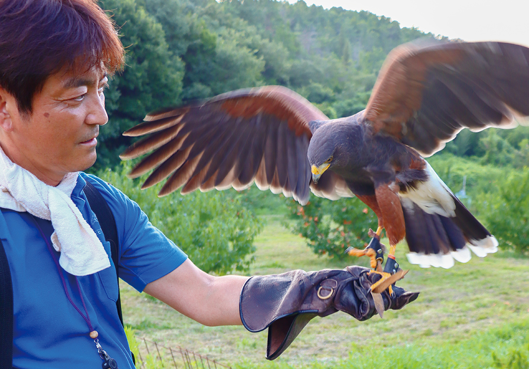
[[[345,266],[313,254],[282,216],[265,218],[251,274]],[[265,359],[266,330],[204,327],[124,282],[123,316],[139,337],[234,368],[529,368],[529,259],[500,251],[449,270],[420,269],[405,252],[406,245],[397,247],[397,260],[410,269],[398,285],[420,291],[416,301],[384,319],[317,317],[274,362]]]

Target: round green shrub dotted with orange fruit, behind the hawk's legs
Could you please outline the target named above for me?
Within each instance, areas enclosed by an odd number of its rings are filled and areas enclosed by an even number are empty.
[[[343,260],[349,246],[363,248],[369,242],[369,228],[377,227],[377,217],[358,199],[330,201],[312,196],[305,206],[289,204],[295,222],[292,230],[307,239],[318,255]]]

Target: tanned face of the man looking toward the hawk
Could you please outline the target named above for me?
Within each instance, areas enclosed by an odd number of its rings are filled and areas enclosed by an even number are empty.
[[[99,125],[108,121],[106,83],[106,73],[97,68],[83,74],[58,72],[35,94],[31,115],[21,114],[7,95],[11,128],[0,130],[0,145],[7,156],[52,186],[68,172],[91,167]]]

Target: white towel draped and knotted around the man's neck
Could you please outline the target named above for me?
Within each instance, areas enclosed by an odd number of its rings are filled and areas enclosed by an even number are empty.
[[[78,172],[68,173],[57,187],[13,163],[0,147],[0,207],[51,220],[51,241],[59,264],[70,274],[88,275],[110,266],[105,248],[71,200]],[[16,232],[16,229],[11,229]]]

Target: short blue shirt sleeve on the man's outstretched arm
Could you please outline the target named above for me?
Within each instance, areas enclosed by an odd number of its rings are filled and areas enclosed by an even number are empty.
[[[172,272],[187,255],[158,228],[140,206],[100,178],[85,174],[103,195],[116,220],[120,255],[120,278],[142,292],[145,285]]]

